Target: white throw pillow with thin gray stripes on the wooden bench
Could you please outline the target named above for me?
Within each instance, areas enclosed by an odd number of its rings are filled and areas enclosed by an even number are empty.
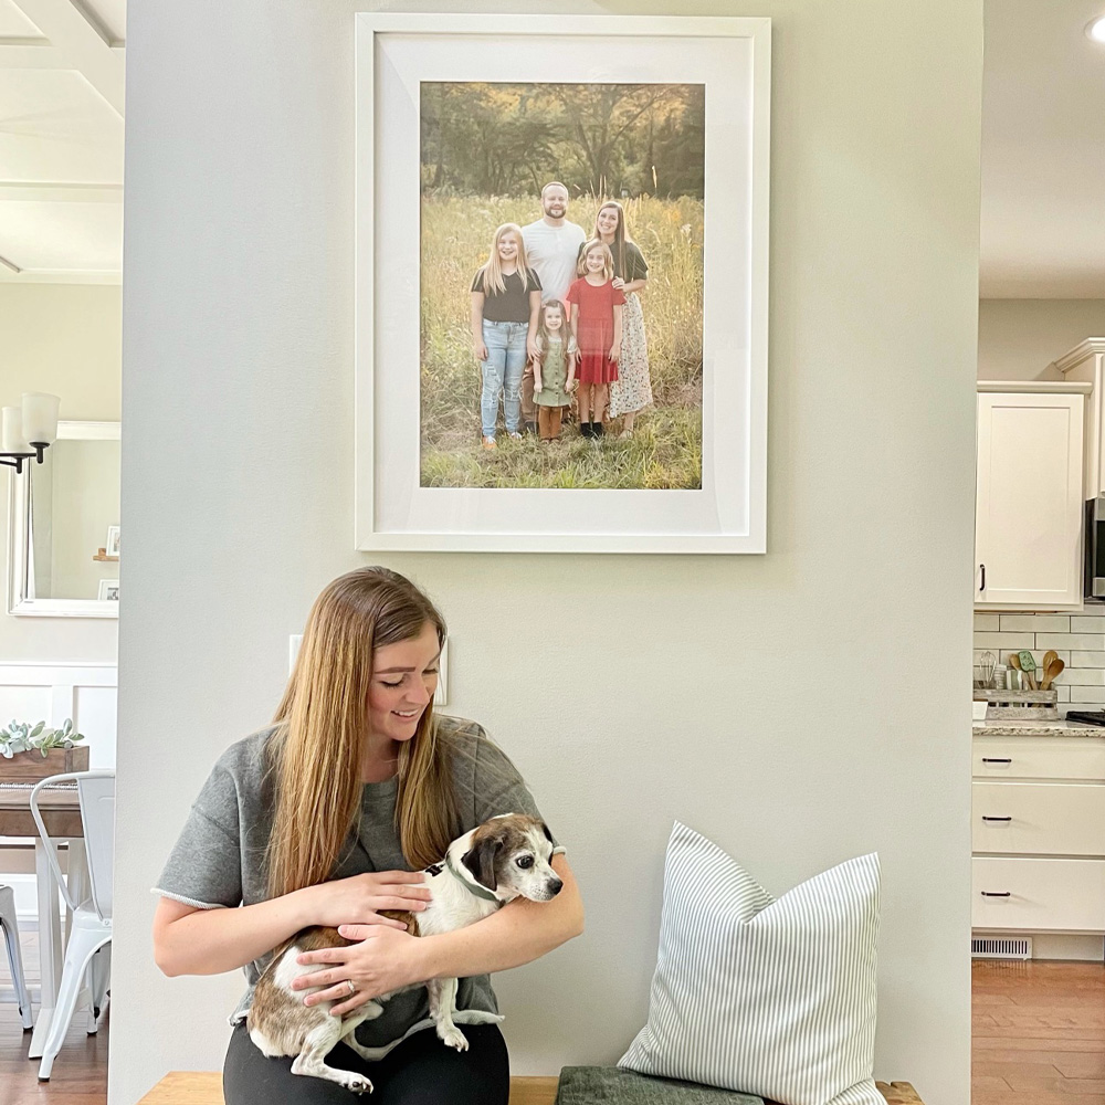
[[[878,856],[772,898],[675,822],[649,1021],[618,1065],[782,1105],[885,1105],[873,1081]]]

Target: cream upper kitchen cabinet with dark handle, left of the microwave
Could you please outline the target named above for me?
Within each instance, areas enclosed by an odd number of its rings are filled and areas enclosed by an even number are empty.
[[[1069,610],[1083,594],[1084,396],[1057,385],[981,391],[975,604]],[[1084,389],[1078,389],[1080,391]]]

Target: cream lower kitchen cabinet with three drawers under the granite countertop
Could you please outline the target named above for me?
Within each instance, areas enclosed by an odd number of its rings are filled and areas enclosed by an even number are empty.
[[[1105,933],[1105,733],[972,738],[971,926]]]

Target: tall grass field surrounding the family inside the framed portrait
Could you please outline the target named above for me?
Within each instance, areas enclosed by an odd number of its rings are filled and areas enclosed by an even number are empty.
[[[575,419],[559,441],[480,436],[480,362],[472,352],[471,286],[504,222],[540,214],[527,197],[422,197],[421,483],[423,487],[702,486],[702,200],[641,197],[621,201],[630,234],[649,263],[639,293],[649,341],[654,404],[633,436],[579,436]],[[568,219],[589,235],[601,200],[571,201]],[[499,429],[503,429],[502,409]]]

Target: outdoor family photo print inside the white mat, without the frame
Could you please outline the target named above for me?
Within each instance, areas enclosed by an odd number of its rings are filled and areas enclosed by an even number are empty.
[[[702,486],[704,135],[702,85],[422,84],[422,486]]]

